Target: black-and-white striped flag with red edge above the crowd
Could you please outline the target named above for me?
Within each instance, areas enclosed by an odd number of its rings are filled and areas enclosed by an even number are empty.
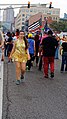
[[[41,25],[42,25],[42,19],[40,18],[38,21],[28,26],[28,31],[35,32],[41,27]]]

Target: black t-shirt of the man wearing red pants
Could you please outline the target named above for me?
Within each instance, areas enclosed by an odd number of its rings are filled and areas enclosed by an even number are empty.
[[[43,39],[42,46],[43,46],[43,55],[50,57],[55,55],[55,50],[56,47],[58,46],[58,42],[54,37],[48,36]]]

